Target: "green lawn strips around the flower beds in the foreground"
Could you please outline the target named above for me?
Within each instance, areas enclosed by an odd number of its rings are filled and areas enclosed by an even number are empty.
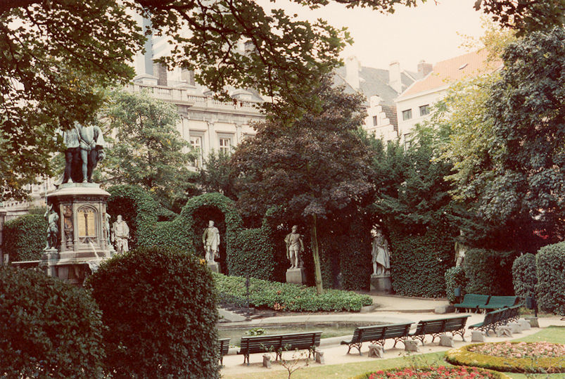
[[[565,342],[565,327],[562,326],[550,326],[540,330],[538,333],[529,335],[525,338],[518,338],[515,341],[524,342],[536,342],[536,341],[547,341],[553,343],[564,343]],[[301,368],[300,370],[293,373],[293,379],[318,379],[318,378],[336,378],[336,379],[347,379],[354,375],[360,375],[368,371],[376,371],[384,368],[402,367],[402,366],[431,366],[433,364],[450,366],[445,361],[443,361],[443,352],[430,353],[430,354],[417,354],[411,357],[399,357],[393,359],[383,359],[375,361],[365,361],[353,364],[334,364],[327,366],[318,367],[307,367]],[[552,375],[523,375],[517,373],[506,373],[511,378],[514,379],[526,379],[526,378],[548,378],[548,379],[565,379],[565,373],[557,373]],[[288,373],[286,371],[275,371],[275,372],[261,372],[261,373],[246,373],[241,375],[229,375],[222,378],[226,379],[286,379],[288,378]]]

